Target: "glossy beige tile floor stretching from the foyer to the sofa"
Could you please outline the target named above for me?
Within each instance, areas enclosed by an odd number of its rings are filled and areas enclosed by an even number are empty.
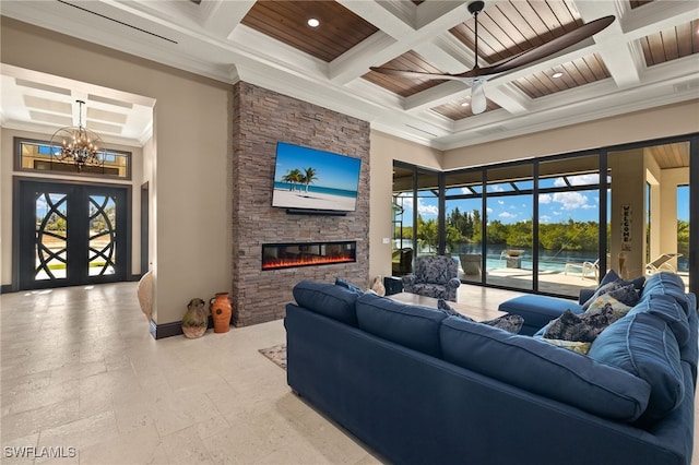
[[[514,295],[459,288],[484,319]],[[281,320],[155,341],[135,283],[3,294],[0,317],[2,464],[380,463],[259,354]]]

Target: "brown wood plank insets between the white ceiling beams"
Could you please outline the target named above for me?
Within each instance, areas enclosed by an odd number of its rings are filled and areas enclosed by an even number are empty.
[[[651,1],[630,0],[629,7],[642,8]],[[323,27],[308,26],[307,20],[310,17],[320,20]],[[697,53],[699,35],[692,32],[699,27],[698,23],[699,21],[692,21],[682,27],[673,27],[641,38],[639,43],[647,65],[651,67]],[[340,57],[378,31],[340,3],[323,0],[258,1],[244,17],[242,24],[325,62]],[[500,1],[489,5],[478,15],[478,63],[483,67],[510,58],[573,31],[582,24],[580,13],[571,0]],[[465,47],[474,50],[474,19],[467,17],[450,28],[449,33]],[[408,50],[381,65],[430,73],[443,72],[415,50]],[[466,71],[465,67],[462,71]],[[410,97],[443,83],[440,80],[388,76],[374,71],[367,72],[363,78],[401,97]],[[593,53],[519,78],[512,83],[529,98],[536,99],[609,78],[611,74],[603,59]],[[465,95],[459,100],[445,103],[431,109],[458,121],[473,116],[469,105],[470,96]],[[486,111],[498,108],[498,105],[488,100]]]

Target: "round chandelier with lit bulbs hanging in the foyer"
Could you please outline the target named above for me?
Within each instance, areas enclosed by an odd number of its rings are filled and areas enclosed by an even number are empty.
[[[104,165],[104,148],[99,135],[83,127],[83,100],[80,105],[78,127],[61,128],[51,136],[51,156],[61,163],[75,165],[79,171],[85,166]]]

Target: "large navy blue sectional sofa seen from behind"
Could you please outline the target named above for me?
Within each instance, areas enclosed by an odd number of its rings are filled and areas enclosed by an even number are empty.
[[[656,276],[594,357],[304,281],[284,321],[287,381],[390,463],[686,465],[697,303]]]

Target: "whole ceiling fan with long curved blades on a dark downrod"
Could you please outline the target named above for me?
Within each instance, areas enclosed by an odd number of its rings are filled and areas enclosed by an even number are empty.
[[[459,74],[438,74],[371,67],[371,71],[400,78],[462,81],[471,87],[471,110],[474,115],[478,115],[486,109],[486,98],[485,91],[483,90],[483,83],[485,83],[490,76],[493,76],[494,74],[502,73],[505,71],[521,68],[542,58],[548,57],[549,55],[564,50],[571,45],[587,39],[588,37],[592,37],[596,33],[612,24],[615,20],[613,15],[600,17],[590,23],[583,24],[574,31],[564,34],[560,37],[556,37],[555,39],[547,41],[544,45],[522,51],[514,57],[506,58],[505,60],[498,61],[494,64],[481,68],[478,67],[478,14],[483,11],[484,7],[485,2],[483,1],[474,1],[469,3],[469,12],[473,14],[473,17],[475,20],[475,64],[472,70]]]

